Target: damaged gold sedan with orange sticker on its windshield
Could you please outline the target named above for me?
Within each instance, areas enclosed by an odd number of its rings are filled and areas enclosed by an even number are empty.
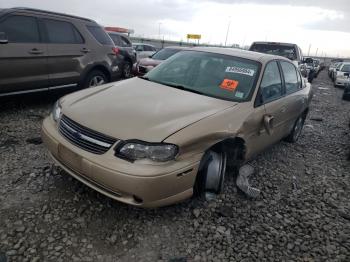
[[[63,97],[42,137],[55,162],[89,187],[158,207],[218,194],[228,163],[295,142],[311,97],[288,59],[194,48],[142,78]]]

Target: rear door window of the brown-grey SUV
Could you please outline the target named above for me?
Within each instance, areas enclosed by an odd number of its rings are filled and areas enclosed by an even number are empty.
[[[44,19],[49,43],[82,44],[84,40],[77,29],[68,22]]]

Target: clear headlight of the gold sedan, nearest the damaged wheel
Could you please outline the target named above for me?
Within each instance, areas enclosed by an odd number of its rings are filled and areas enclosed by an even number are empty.
[[[142,141],[126,142],[116,149],[116,156],[129,161],[150,159],[157,162],[166,162],[175,158],[178,147],[165,143],[146,143]]]

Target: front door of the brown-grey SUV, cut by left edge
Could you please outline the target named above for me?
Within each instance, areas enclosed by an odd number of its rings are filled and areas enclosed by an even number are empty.
[[[0,32],[8,38],[0,45],[0,93],[48,86],[47,45],[38,19],[24,14],[1,18]]]

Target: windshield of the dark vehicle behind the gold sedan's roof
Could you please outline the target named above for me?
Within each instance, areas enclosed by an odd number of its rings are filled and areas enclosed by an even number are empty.
[[[250,51],[265,53],[270,55],[284,56],[290,60],[296,60],[297,54],[293,46],[277,44],[253,44]]]

